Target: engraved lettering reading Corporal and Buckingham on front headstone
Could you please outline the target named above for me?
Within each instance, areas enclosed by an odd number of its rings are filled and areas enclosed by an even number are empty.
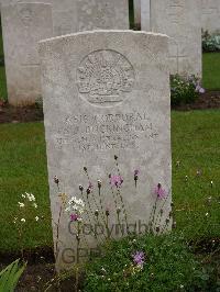
[[[57,149],[70,147],[75,151],[106,151],[138,149],[143,139],[158,136],[147,113],[79,114],[67,116],[55,137]]]

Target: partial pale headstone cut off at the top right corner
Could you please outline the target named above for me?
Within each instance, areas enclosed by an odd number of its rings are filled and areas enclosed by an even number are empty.
[[[220,34],[219,0],[202,0],[201,27],[209,33]]]

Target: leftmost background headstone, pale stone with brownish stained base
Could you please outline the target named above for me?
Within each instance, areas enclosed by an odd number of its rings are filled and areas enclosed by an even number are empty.
[[[52,8],[18,3],[1,8],[8,99],[29,104],[41,98],[37,42],[52,35]]]

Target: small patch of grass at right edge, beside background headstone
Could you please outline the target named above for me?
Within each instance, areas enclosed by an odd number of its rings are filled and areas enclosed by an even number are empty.
[[[204,87],[209,90],[220,90],[220,53],[205,53],[202,66]]]

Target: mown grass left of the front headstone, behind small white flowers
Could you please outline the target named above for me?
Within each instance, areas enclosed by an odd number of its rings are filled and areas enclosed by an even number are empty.
[[[16,250],[20,243],[13,217],[18,215],[21,194],[32,192],[38,203],[37,216],[23,215],[28,228],[24,246],[52,245],[51,213],[47,187],[46,154],[42,123],[2,124],[0,126],[0,250]]]

